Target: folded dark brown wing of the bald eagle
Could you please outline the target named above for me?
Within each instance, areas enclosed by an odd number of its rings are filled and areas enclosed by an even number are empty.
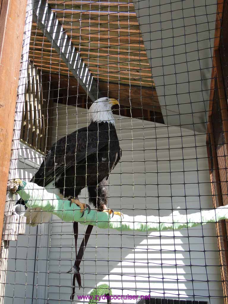
[[[108,145],[109,133],[105,131],[73,132],[52,146],[40,169],[31,181],[46,186],[71,166],[86,161],[86,157]]]

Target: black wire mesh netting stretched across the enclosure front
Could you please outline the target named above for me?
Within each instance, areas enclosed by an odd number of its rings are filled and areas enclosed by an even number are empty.
[[[227,9],[28,0],[9,179],[43,201],[20,201],[24,234],[3,231],[1,301],[227,302],[225,220],[152,232],[125,222],[227,205]],[[45,209],[43,187],[82,225]],[[7,195],[5,221],[19,198]],[[77,257],[94,211],[121,226],[95,225]]]

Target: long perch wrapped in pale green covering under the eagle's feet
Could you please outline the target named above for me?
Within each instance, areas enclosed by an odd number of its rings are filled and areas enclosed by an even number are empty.
[[[76,221],[82,225],[93,225],[102,229],[116,229],[119,231],[162,231],[179,230],[191,228],[206,223],[216,223],[221,219],[228,219],[228,205],[216,209],[201,210],[189,215],[177,216],[128,216],[123,214],[121,217],[115,215],[112,217],[108,212],[97,212],[88,209],[81,217],[80,207],[76,204],[64,203],[57,195],[48,192],[45,188],[33,183],[16,180],[9,184],[12,192],[17,192],[21,198],[26,201],[25,216],[27,223],[31,212],[47,211],[58,216],[65,222]]]

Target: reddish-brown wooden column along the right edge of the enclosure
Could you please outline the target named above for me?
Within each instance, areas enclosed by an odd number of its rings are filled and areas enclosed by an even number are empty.
[[[217,1],[216,29],[211,77],[210,104],[208,112],[208,158],[214,207],[228,203],[227,160],[228,160],[228,114],[227,96],[224,90],[224,78],[221,66],[220,36],[224,28],[224,1]],[[226,26],[226,24],[225,24]],[[222,50],[223,51],[223,50]],[[223,64],[224,65],[224,64]],[[220,149],[219,149],[220,148]],[[228,304],[228,241],[227,221],[216,224],[217,240],[221,263],[224,303]]]

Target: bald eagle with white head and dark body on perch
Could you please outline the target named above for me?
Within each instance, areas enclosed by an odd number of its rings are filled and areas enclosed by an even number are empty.
[[[51,184],[53,188],[54,185],[64,198],[71,201],[70,204],[80,206],[82,215],[88,205],[81,203],[78,195],[85,187],[88,188],[89,202],[98,211],[121,215],[106,206],[107,179],[122,154],[112,114],[114,105],[119,102],[107,97],[93,102],[88,110],[90,125],[58,140],[31,179],[39,186]],[[39,222],[37,216],[30,219],[32,225]]]

